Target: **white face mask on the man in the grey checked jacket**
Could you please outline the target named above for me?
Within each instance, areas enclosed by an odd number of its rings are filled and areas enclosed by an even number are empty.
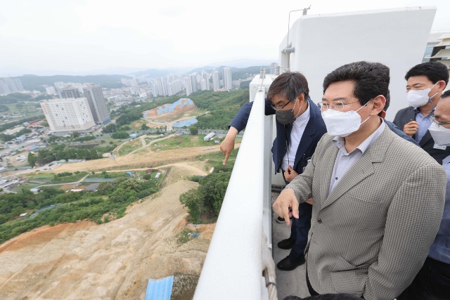
[[[364,106],[359,107],[358,110],[350,110],[348,112],[340,112],[338,110],[326,110],[322,112],[323,122],[325,122],[326,130],[330,136],[348,136],[350,133],[359,129],[359,126],[364,124],[371,116],[369,115],[364,122],[361,123],[361,116],[358,111]]]

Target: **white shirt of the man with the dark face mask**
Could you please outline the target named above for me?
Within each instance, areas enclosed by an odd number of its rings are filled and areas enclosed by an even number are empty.
[[[283,162],[281,164],[281,168],[283,168],[283,170],[287,170],[288,165],[290,165],[290,167],[294,167],[295,155],[297,155],[298,145],[300,144],[304,129],[306,128],[309,117],[311,115],[309,111],[309,105],[310,104],[308,103],[308,108],[305,112],[302,113],[302,115],[295,118],[293,129],[292,131],[290,131],[288,151],[286,151],[286,154],[283,157]]]

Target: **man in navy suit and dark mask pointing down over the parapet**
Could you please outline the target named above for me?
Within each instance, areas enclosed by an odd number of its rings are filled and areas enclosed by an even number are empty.
[[[245,128],[253,102],[244,105],[229,126],[229,133],[221,143],[224,164],[234,148],[234,140]],[[276,116],[276,138],[272,147],[275,172],[283,172],[286,183],[302,174],[310,161],[326,126],[319,107],[309,98],[307,79],[298,72],[285,72],[272,82],[266,99],[266,115]],[[304,263],[304,247],[311,227],[311,205],[300,204],[300,219],[291,227],[290,237],[278,242],[290,254],[277,263],[280,270],[294,270]],[[282,219],[283,220],[283,219]]]

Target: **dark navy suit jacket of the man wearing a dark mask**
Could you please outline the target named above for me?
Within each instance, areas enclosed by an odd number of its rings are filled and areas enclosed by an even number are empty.
[[[321,110],[311,101],[311,98],[308,98],[308,103],[310,112],[309,121],[304,129],[300,144],[297,148],[297,154],[295,155],[294,165],[292,166],[298,174],[302,174],[304,167],[307,166],[308,159],[311,158],[314,150],[316,150],[317,143],[319,143],[323,134],[326,133],[326,126],[322,119]],[[231,121],[230,126],[238,129],[238,131],[243,130],[247,125],[252,105],[253,102],[243,105],[236,117]],[[266,100],[265,115],[275,115],[275,110],[271,107],[269,100]],[[281,163],[286,154],[287,145],[290,142],[291,129],[292,124],[283,125],[276,122],[276,138],[272,146],[272,157],[274,159],[276,173],[281,171]]]

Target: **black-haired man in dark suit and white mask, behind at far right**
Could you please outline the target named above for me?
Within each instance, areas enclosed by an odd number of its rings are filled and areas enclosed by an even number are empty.
[[[394,124],[442,164],[442,159],[450,155],[450,147],[437,145],[428,127],[442,91],[449,83],[449,71],[442,63],[421,63],[412,67],[405,79],[408,91],[406,98],[410,106],[397,112]]]

